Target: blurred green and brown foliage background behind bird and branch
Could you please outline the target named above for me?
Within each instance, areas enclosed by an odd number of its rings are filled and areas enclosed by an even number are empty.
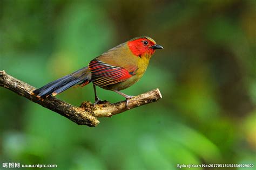
[[[253,0],[0,1],[0,70],[35,87],[133,37],[164,47],[142,80],[124,90],[159,88],[163,98],[100,118],[96,128],[0,88],[0,169],[2,162],[57,169],[256,166],[255,11]],[[98,94],[124,100],[100,88]],[[93,102],[92,84],[57,97],[77,106]]]

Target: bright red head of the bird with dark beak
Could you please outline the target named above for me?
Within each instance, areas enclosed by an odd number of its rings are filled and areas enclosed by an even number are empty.
[[[127,42],[131,52],[136,56],[153,55],[156,49],[164,49],[162,46],[157,45],[150,37],[137,37]]]

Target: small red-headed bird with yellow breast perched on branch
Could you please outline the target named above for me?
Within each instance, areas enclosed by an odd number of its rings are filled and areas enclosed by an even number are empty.
[[[150,37],[136,37],[124,42],[91,60],[88,66],[77,70],[45,86],[34,90],[31,94],[44,100],[48,96],[56,96],[73,86],[83,87],[92,82],[95,92],[95,104],[101,100],[97,96],[96,86],[112,90],[129,99],[120,90],[136,83],[145,73],[151,56],[156,49],[164,49]]]

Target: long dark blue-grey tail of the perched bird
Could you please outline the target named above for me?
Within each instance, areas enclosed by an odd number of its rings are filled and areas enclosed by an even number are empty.
[[[45,86],[36,89],[32,94],[37,95],[38,98],[46,98],[48,96],[55,96],[66,89],[73,86],[85,86],[91,82],[91,72],[88,67],[81,68],[76,72],[66,75],[58,80],[50,82]]]

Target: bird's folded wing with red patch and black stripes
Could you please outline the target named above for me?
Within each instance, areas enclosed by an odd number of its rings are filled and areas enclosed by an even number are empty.
[[[129,79],[136,74],[138,69],[135,65],[129,67],[113,66],[110,63],[94,59],[89,63],[89,69],[92,73],[92,82],[95,86],[107,86],[116,84]]]

